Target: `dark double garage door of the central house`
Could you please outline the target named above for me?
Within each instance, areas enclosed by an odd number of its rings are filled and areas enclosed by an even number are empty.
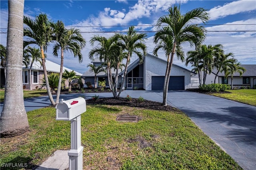
[[[152,76],[152,90],[164,89],[164,76]],[[184,90],[184,76],[170,76],[168,90]]]

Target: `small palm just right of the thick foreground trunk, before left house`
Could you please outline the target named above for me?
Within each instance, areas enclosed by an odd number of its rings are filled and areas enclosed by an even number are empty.
[[[32,90],[32,65],[35,61],[38,61],[41,65],[42,65],[42,61],[41,59],[41,53],[40,50],[37,48],[32,48],[30,46],[28,46],[25,50],[24,50],[24,57],[30,59],[30,67],[29,67],[29,86],[30,86],[30,90]]]

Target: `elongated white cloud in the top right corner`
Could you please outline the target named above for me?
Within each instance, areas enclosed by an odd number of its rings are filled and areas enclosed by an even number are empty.
[[[210,20],[224,18],[229,15],[238,14],[241,12],[248,12],[256,9],[256,1],[254,0],[240,0],[225,4],[224,6],[216,6],[209,11]]]

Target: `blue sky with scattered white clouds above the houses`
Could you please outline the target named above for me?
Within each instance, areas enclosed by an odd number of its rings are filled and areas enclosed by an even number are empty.
[[[34,20],[42,13],[53,22],[61,20],[67,28],[80,29],[86,40],[86,47],[82,49],[83,62],[79,63],[72,53],[65,53],[64,66],[83,74],[91,62],[88,53],[97,45],[90,44],[91,37],[110,37],[115,32],[127,31],[134,25],[138,32],[149,31],[146,32],[146,46],[147,52],[152,54],[156,21],[168,14],[170,6],[179,4],[182,14],[195,8],[207,10],[210,20],[204,25],[208,32],[203,44],[222,44],[225,53],[234,53],[241,64],[256,64],[255,0],[25,0],[24,16]],[[0,0],[0,43],[4,46],[7,25],[8,1]],[[195,49],[188,43],[182,47],[185,54]],[[47,60],[60,64],[60,57],[52,55],[52,45],[48,47],[46,54]],[[158,52],[158,57],[166,59],[163,51]],[[131,62],[137,58],[132,55]],[[174,64],[191,69],[191,66],[186,67],[176,57]]]

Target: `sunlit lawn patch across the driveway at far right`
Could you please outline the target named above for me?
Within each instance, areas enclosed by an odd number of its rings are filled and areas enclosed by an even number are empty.
[[[256,89],[240,89],[227,91],[231,93],[213,93],[210,95],[256,106]]]

